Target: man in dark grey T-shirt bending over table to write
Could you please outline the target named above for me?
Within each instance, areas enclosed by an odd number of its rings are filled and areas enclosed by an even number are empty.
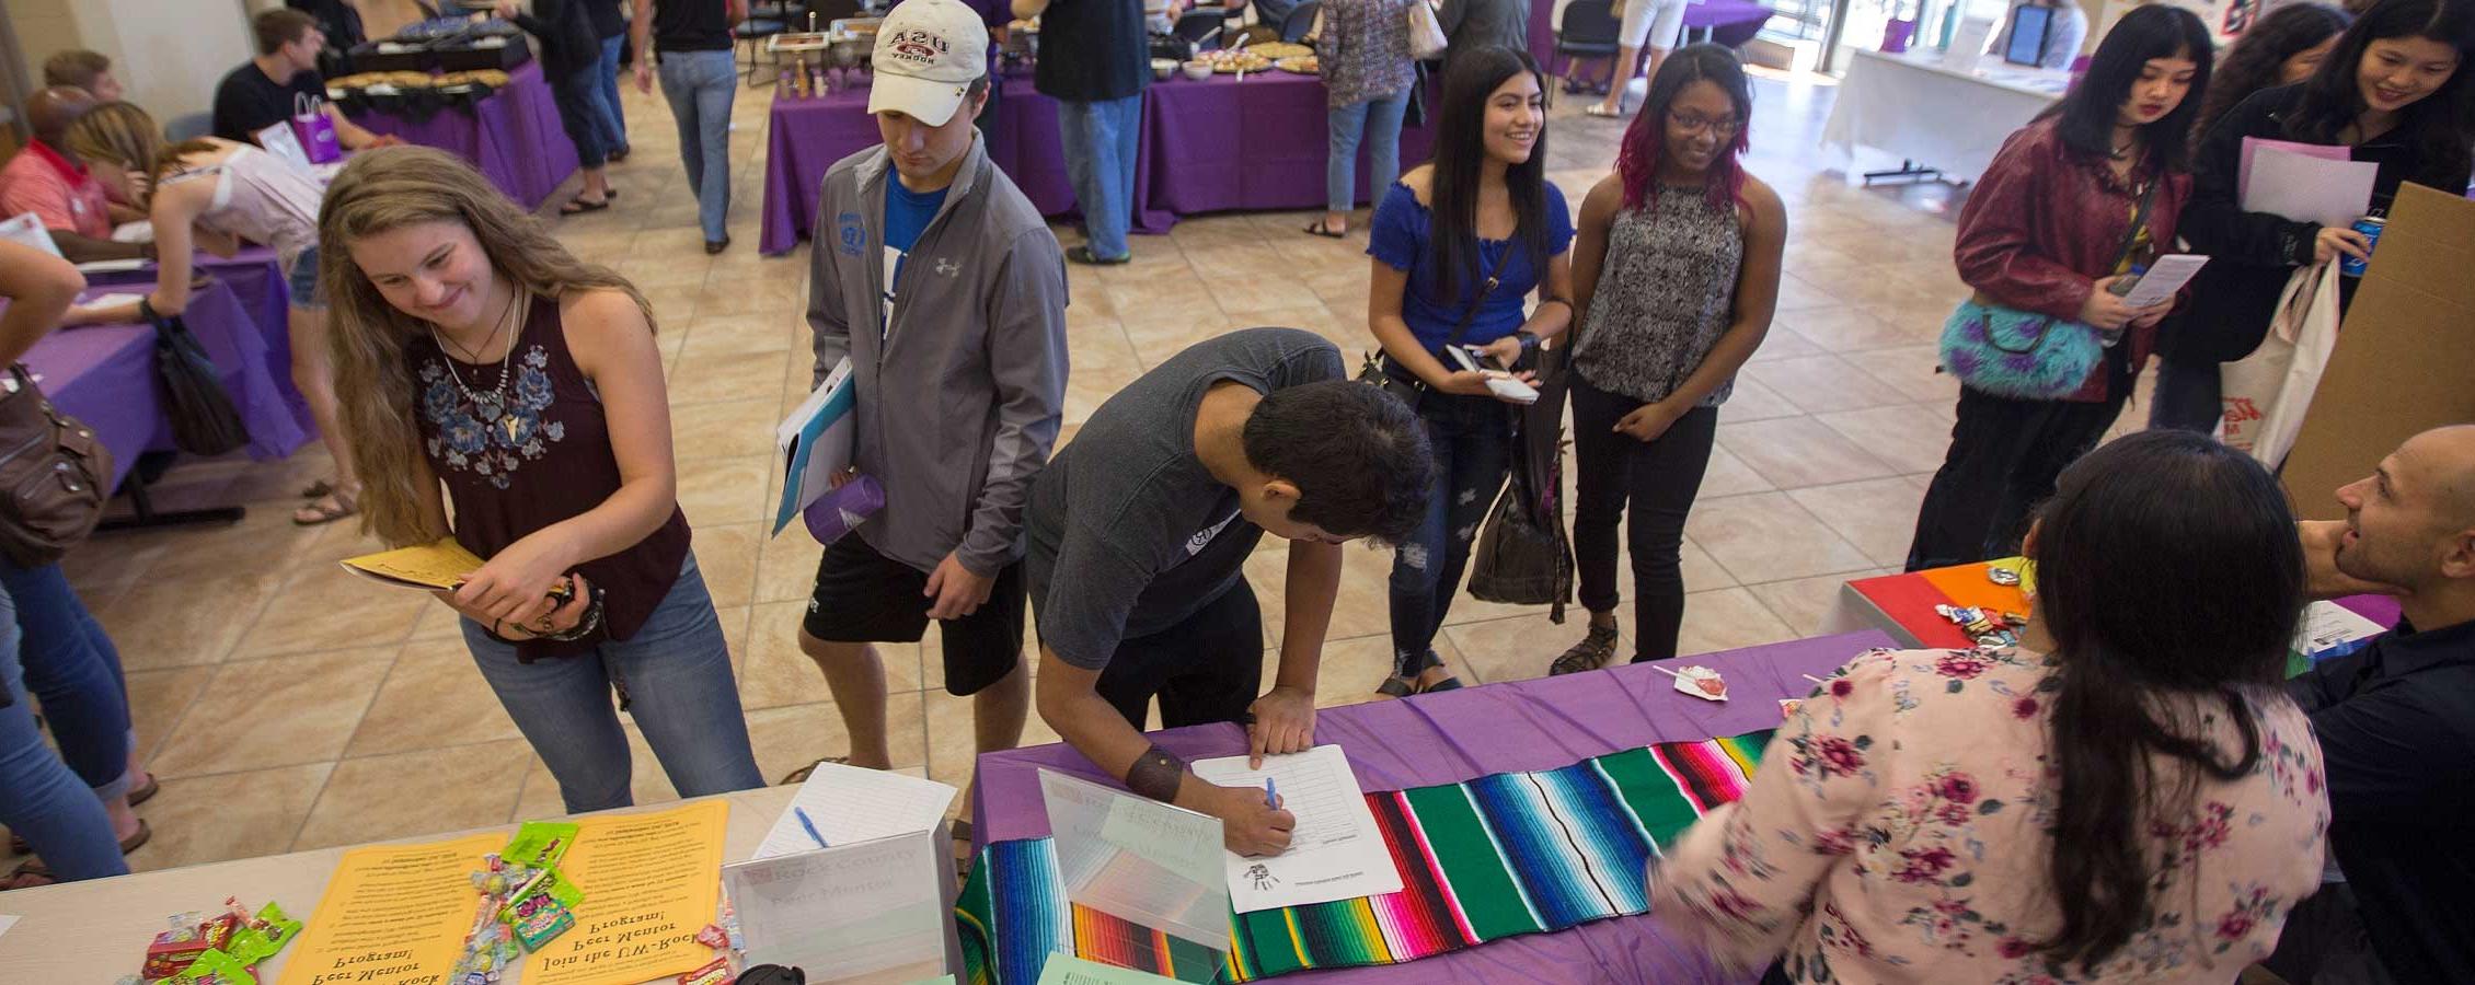
[[[1242,329],[1134,381],[1032,483],[1040,718],[1136,794],[1213,814],[1230,851],[1275,854],[1297,819],[1262,789],[1215,787],[1141,735],[1247,723],[1247,750],[1314,745],[1341,544],[1426,515],[1436,460],[1398,398],[1351,381],[1312,332]],[[1262,609],[1245,559],[1289,542],[1280,678],[1262,683]]]

